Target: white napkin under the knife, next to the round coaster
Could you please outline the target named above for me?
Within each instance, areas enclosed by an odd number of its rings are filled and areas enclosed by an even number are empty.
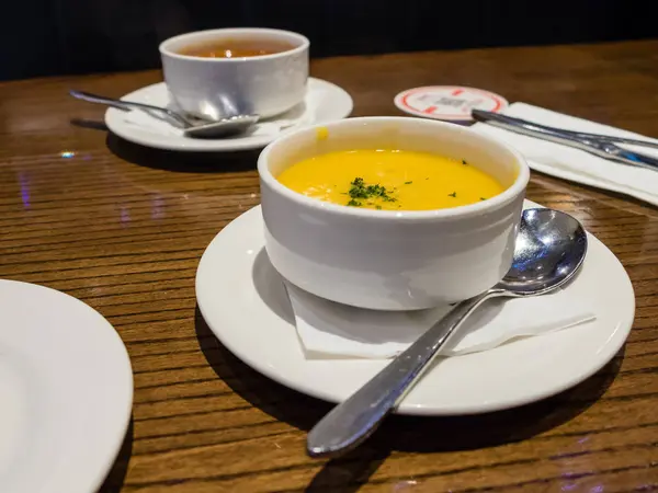
[[[555,113],[525,103],[514,103],[502,113],[568,130],[658,141],[632,131]],[[608,161],[579,149],[514,134],[484,123],[477,123],[473,128],[517,148],[533,170],[572,182],[619,192],[658,205],[658,172],[656,171]],[[656,149],[636,146],[624,147],[658,158],[658,150]]]

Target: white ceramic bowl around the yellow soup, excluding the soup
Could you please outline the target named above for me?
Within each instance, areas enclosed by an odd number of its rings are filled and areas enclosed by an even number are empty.
[[[319,297],[362,308],[411,310],[460,301],[511,265],[530,170],[509,147],[469,128],[419,118],[351,118],[291,133],[260,154],[265,249],[272,265]],[[303,159],[394,148],[466,159],[506,185],[468,206],[390,211],[306,197],[276,176]]]

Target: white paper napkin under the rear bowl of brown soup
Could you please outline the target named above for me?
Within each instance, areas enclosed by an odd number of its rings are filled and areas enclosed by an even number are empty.
[[[173,110],[175,111],[175,108]],[[302,125],[308,125],[314,121],[315,112],[316,108],[313,107],[313,102],[306,101],[304,107],[293,108],[276,118],[259,122],[253,126],[252,129],[240,137],[264,135],[275,136],[282,130]],[[125,112],[125,114],[122,116],[124,122],[128,125],[138,126],[141,129],[150,130],[154,134],[170,135],[172,137],[183,138],[182,129],[177,128],[167,121],[155,115],[150,115],[146,112],[133,110]]]

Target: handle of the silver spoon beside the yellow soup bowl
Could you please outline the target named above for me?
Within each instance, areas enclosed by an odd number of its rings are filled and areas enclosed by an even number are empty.
[[[411,390],[462,322],[487,298],[503,293],[501,289],[489,289],[457,303],[409,348],[314,426],[306,442],[308,455],[333,457],[365,440],[406,392]]]

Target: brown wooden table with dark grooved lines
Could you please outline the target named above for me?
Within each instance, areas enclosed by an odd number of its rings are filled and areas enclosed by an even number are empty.
[[[313,74],[344,87],[354,115],[398,114],[400,90],[458,83],[658,136],[658,42],[333,58],[316,60]],[[195,308],[205,246],[259,203],[258,152],[140,148],[107,135],[104,108],[66,94],[120,96],[159,80],[0,84],[0,277],[86,301],[131,354],[133,420],[103,491],[658,488],[656,208],[533,173],[529,198],[578,217],[628,271],[637,314],[625,349],[553,399],[475,417],[395,416],[358,451],[311,460],[306,432],[330,406],[248,368]]]

